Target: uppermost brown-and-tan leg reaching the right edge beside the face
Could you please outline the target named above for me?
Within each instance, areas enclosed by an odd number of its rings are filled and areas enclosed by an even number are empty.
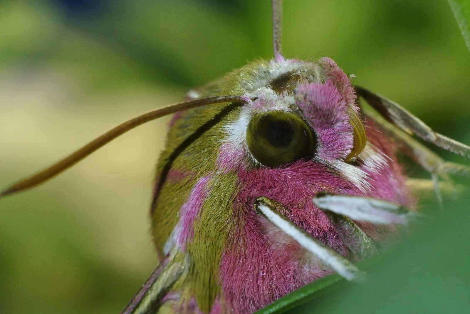
[[[364,98],[371,107],[376,109],[386,120],[399,127],[399,129],[404,130],[408,134],[416,135],[452,153],[470,158],[469,146],[434,132],[423,121],[392,100],[388,100],[359,86],[354,88],[358,96]]]

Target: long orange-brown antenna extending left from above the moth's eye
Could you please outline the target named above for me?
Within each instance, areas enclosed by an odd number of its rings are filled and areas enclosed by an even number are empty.
[[[24,191],[26,189],[30,189],[36,185],[39,185],[50,178],[58,175],[65,169],[73,166],[78,161],[81,161],[89,154],[96,151],[98,148],[106,145],[110,141],[115,138],[118,138],[120,135],[124,134],[125,132],[132,130],[133,128],[147,123],[149,121],[155,120],[157,118],[163,117],[165,115],[173,114],[177,111],[186,110],[190,108],[200,107],[209,104],[218,104],[222,102],[240,102],[240,103],[247,103],[246,97],[242,96],[234,96],[234,95],[221,95],[221,96],[211,96],[200,98],[196,100],[188,100],[168,106],[164,106],[158,109],[154,109],[152,111],[146,112],[142,115],[138,115],[130,120],[121,123],[111,130],[103,133],[99,137],[95,138],[82,148],[78,149],[77,151],[71,153],[67,157],[63,158],[62,160],[56,162],[52,166],[45,168],[44,170],[39,171],[38,173],[26,177],[23,180],[20,180],[16,184],[11,185],[5,191],[0,193],[0,198],[6,196],[8,194],[12,194],[19,191]]]

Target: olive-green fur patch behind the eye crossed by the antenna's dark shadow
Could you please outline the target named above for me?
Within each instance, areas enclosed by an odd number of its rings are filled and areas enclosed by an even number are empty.
[[[221,128],[227,116],[214,119],[218,114],[234,110],[234,106],[217,105],[188,110],[168,133],[167,148],[157,164],[156,182],[159,191],[151,211],[152,235],[157,251],[170,236],[179,219],[179,209],[188,198],[196,182],[215,169]],[[178,180],[166,180],[168,171],[180,171]]]

